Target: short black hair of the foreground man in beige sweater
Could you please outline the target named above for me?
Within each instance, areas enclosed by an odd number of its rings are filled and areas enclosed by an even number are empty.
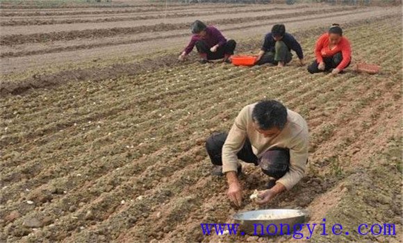
[[[252,119],[262,130],[279,128],[283,130],[287,123],[287,108],[275,100],[259,101],[252,110]]]

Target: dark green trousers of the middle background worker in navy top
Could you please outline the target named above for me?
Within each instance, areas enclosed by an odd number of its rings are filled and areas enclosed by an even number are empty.
[[[277,65],[280,61],[288,63],[293,59],[293,53],[290,52],[286,43],[281,40],[276,42],[274,51],[266,51],[256,65],[263,65],[265,63],[272,63]]]

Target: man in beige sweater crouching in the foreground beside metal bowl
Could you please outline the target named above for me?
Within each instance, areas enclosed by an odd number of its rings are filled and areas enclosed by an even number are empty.
[[[242,167],[238,159],[261,167],[268,176],[267,190],[258,194],[258,204],[290,190],[304,176],[308,161],[309,134],[304,118],[274,100],[242,108],[229,133],[206,140],[213,175],[227,177],[228,196],[236,206],[242,203],[238,181]]]

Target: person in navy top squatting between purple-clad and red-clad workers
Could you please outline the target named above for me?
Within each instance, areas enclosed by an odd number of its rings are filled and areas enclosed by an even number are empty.
[[[297,53],[299,65],[304,65],[304,53],[301,45],[295,40],[293,35],[286,33],[286,26],[276,24],[272,27],[272,32],[265,35],[263,46],[256,59],[257,65],[271,63],[278,67],[284,67],[293,59],[293,53]]]

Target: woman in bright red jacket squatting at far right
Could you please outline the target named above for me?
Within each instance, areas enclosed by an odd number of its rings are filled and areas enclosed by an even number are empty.
[[[349,40],[343,36],[338,24],[333,24],[328,33],[319,37],[315,44],[316,60],[308,67],[308,72],[330,72],[339,74],[351,62],[351,47]]]

